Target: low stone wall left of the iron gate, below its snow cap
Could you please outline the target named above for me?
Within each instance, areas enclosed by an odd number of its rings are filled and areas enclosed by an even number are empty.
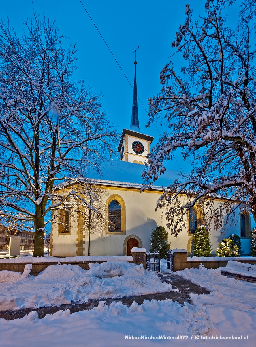
[[[132,261],[128,261],[129,263],[132,263]],[[88,270],[90,263],[104,263],[104,261],[85,261],[85,262],[47,262],[47,263],[32,263],[32,270],[30,271],[30,274],[33,276],[37,276],[38,273],[44,271],[49,265],[58,265],[58,264],[71,264],[71,265],[79,265],[82,269]],[[17,271],[17,272],[23,272],[25,265],[31,264],[31,262],[27,263],[0,263],[0,271],[2,270],[8,270],[8,271]]]

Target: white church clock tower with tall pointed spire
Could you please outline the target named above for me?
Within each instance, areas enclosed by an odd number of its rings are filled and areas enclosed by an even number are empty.
[[[139,131],[138,101],[137,101],[137,81],[136,65],[134,62],[134,89],[132,99],[131,125],[130,129],[123,129],[118,152],[121,161],[129,161],[137,164],[144,164],[147,161],[147,154],[150,152],[150,144],[154,137],[142,134]]]

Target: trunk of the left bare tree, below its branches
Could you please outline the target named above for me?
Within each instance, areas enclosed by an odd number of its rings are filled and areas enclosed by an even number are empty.
[[[43,257],[44,256],[44,216],[40,213],[40,207],[36,208],[35,213],[35,236],[34,236],[34,253],[33,257]]]

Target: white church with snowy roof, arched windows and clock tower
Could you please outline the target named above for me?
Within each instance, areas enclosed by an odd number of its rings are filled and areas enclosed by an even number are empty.
[[[132,247],[150,249],[150,236],[157,226],[166,227],[165,211],[155,212],[157,199],[162,195],[163,187],[174,181],[179,171],[166,170],[157,180],[158,186],[143,193],[140,192],[143,179],[143,165],[150,152],[154,138],[143,134],[139,129],[137,81],[135,61],[134,92],[130,129],[123,129],[118,153],[120,160],[107,162],[102,174],[89,177],[94,186],[103,189],[101,203],[106,214],[106,226],[103,233],[88,234],[88,228],[79,221],[78,215],[58,210],[53,216],[51,226],[51,255],[56,257],[80,255],[131,255]],[[68,189],[68,187],[66,188]],[[182,196],[181,199],[186,197]],[[239,213],[239,212],[238,212]],[[211,228],[210,243],[214,251],[219,242],[230,234],[241,237],[244,255],[250,250],[250,230],[254,227],[252,216],[238,215],[237,225],[230,225],[226,234]],[[171,249],[188,250],[191,256],[193,233],[200,225],[200,211],[192,208],[188,213],[187,227],[175,238],[169,233]],[[63,221],[63,223],[60,221]],[[109,223],[110,222],[110,223]],[[110,226],[111,225],[111,226]],[[168,229],[167,229],[168,231]]]

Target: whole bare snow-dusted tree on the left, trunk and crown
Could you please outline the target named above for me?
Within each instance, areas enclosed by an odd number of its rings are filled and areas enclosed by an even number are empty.
[[[47,213],[86,205],[88,170],[111,156],[117,135],[100,95],[72,79],[75,46],[65,47],[55,22],[34,14],[25,25],[18,37],[0,23],[0,204],[1,214],[34,222],[34,256],[44,256]],[[70,182],[76,188],[59,196],[56,185]]]

